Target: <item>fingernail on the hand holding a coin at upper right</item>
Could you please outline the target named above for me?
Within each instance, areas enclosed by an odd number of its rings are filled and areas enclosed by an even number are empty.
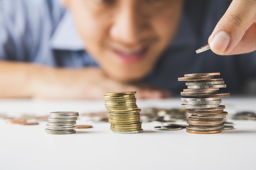
[[[224,31],[218,32],[210,42],[210,48],[216,53],[224,53],[229,46],[230,37]]]

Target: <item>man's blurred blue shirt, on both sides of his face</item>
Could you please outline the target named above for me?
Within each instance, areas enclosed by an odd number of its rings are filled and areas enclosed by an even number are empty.
[[[186,0],[175,39],[162,54],[145,82],[179,95],[185,87],[177,77],[187,73],[220,72],[226,92],[240,92],[247,79],[256,79],[256,52],[218,56],[196,54],[207,44],[231,0]],[[98,66],[84,50],[69,10],[59,0],[0,0],[0,59],[48,66]]]

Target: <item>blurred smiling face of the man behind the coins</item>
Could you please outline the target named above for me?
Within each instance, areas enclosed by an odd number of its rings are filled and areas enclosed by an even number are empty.
[[[63,0],[104,73],[143,78],[175,35],[183,0]]]

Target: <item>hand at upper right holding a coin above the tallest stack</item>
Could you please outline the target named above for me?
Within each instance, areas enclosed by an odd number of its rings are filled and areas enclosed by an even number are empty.
[[[256,0],[233,0],[209,37],[211,50],[218,55],[256,50]]]

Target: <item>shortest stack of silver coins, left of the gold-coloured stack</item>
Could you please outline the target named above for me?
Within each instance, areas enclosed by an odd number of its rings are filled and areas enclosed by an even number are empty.
[[[75,133],[78,112],[51,112],[45,131],[48,134],[63,135]]]

